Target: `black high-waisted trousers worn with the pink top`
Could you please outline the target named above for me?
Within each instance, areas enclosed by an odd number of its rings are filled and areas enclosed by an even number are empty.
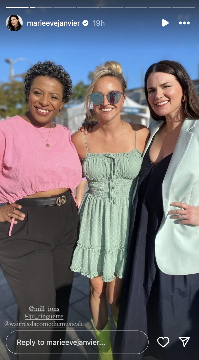
[[[21,211],[26,217],[13,226],[10,237],[10,223],[0,222],[0,265],[17,302],[21,323],[17,339],[35,341],[34,346],[20,345],[18,341],[16,352],[19,360],[60,359],[63,346],[46,343],[65,337],[65,331],[55,331],[59,328],[54,326],[62,323],[60,329],[65,330],[67,322],[73,281],[69,266],[78,225],[76,204],[70,196],[61,206],[22,206]],[[42,315],[56,315],[59,319],[41,319]],[[39,323],[40,331],[30,326],[32,321]],[[43,327],[46,323],[51,326]],[[44,345],[39,345],[38,339]]]

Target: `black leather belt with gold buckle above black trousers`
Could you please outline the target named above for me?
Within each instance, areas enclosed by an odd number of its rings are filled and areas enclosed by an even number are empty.
[[[59,194],[56,197],[50,198],[23,198],[21,200],[15,201],[16,204],[22,206],[61,206],[66,203],[66,201],[71,197],[70,190],[67,193]]]

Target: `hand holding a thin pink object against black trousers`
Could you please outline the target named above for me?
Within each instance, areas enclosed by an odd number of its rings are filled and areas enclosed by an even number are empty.
[[[21,205],[19,204],[5,204],[0,207],[0,222],[8,221],[12,222],[12,217],[18,220],[24,220],[24,217],[26,216],[21,211],[17,209],[21,209]],[[8,216],[9,215],[9,216]],[[14,224],[17,224],[17,221],[14,221]]]

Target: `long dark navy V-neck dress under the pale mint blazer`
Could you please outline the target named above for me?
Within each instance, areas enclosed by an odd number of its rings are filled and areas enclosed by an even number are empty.
[[[199,274],[167,275],[156,264],[162,182],[172,154],[153,164],[149,149],[139,175],[119,310],[117,330],[126,331],[116,332],[114,359],[195,360],[199,352]],[[178,337],[185,336],[190,339],[184,347]],[[160,346],[159,337],[168,337],[168,345]],[[159,341],[164,346],[168,339]]]

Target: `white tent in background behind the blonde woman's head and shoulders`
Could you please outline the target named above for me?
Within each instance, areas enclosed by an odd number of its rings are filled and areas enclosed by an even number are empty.
[[[66,125],[73,133],[78,130],[78,127],[82,125],[85,120],[86,108],[85,103],[80,103],[75,106],[70,106],[66,109]],[[126,96],[125,106],[123,106],[121,118],[124,121],[140,123],[145,126],[149,126],[150,112],[149,108],[144,105],[136,103]]]

